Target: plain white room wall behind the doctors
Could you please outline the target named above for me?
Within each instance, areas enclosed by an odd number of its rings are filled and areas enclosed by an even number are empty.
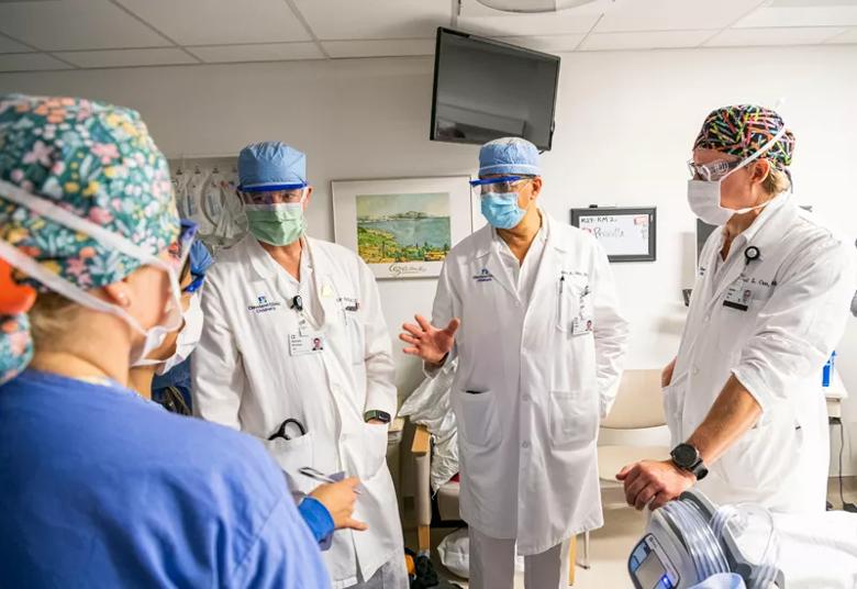
[[[793,173],[802,203],[857,236],[857,46],[582,53],[563,56],[554,149],[544,156],[544,205],[563,221],[589,203],[658,207],[658,260],[614,265],[633,322],[628,367],[661,366],[692,284],[694,220],[685,162],[712,108],[779,107],[798,137]],[[0,92],[78,95],[138,109],[171,157],[235,154],[279,138],[309,154],[316,186],[311,233],[333,237],[330,181],[470,174],[477,146],[429,142],[432,59],[355,59],[0,75]],[[381,284],[391,334],[430,313],[432,280]],[[397,345],[397,348],[399,346]],[[839,346],[855,399],[846,426],[857,473],[857,320]],[[410,391],[418,366],[399,358]],[[836,445],[838,447],[838,445]]]

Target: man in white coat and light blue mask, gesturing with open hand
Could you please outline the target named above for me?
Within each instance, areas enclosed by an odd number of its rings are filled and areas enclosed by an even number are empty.
[[[627,324],[603,249],[537,205],[536,147],[492,141],[479,166],[471,184],[490,225],[449,252],[432,324],[418,315],[400,337],[430,376],[458,357],[470,587],[512,587],[515,541],[526,587],[565,587],[569,538],[603,523],[596,438]]]

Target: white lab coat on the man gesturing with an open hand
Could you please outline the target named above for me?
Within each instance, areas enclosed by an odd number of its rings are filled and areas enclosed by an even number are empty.
[[[461,516],[489,537],[517,538],[523,555],[603,523],[596,440],[627,337],[603,249],[543,219],[547,242],[528,305],[486,226],[447,256],[432,313],[437,326],[461,320],[450,355],[459,362],[450,396]],[[581,311],[593,331],[572,335]]]

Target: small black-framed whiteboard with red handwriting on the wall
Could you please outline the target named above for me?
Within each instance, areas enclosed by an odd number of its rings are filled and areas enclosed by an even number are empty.
[[[657,259],[656,207],[591,207],[571,209],[571,224],[592,233],[604,246],[610,262],[655,262]],[[645,226],[645,229],[644,229]],[[615,238],[599,237],[599,232],[624,231]]]

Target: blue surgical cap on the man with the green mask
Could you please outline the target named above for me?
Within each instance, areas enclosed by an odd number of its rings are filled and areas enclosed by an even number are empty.
[[[238,154],[238,190],[265,192],[307,186],[307,156],[279,141],[247,145]]]

